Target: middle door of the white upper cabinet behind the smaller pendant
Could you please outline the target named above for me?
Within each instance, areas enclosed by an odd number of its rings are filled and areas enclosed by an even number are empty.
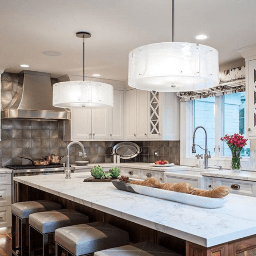
[[[92,140],[109,138],[109,108],[92,109]]]

